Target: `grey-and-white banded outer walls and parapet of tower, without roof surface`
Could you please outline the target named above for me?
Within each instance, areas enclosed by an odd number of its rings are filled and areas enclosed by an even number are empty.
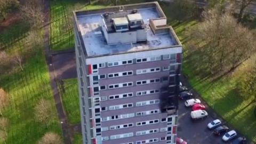
[[[153,49],[137,47],[136,51],[88,55],[84,44],[88,42],[79,29],[84,24],[80,25],[79,19],[86,14],[92,14],[93,17],[106,11],[118,11],[119,7],[74,12],[83,143],[175,143],[182,46],[171,27],[165,26],[163,29],[156,26],[162,25],[161,23],[166,25],[166,17],[158,3],[124,7],[127,11],[140,11],[144,6],[159,15],[151,23],[145,21],[148,28],[150,26],[152,29],[150,34],[155,35],[154,37],[168,35],[173,44]],[[111,49],[109,46],[106,49],[109,48]],[[127,75],[128,71],[132,71],[132,74]],[[112,88],[111,85],[118,87]]]

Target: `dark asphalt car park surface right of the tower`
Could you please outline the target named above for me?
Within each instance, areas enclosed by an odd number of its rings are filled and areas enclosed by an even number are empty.
[[[182,81],[183,85],[186,85],[186,81]],[[190,89],[189,89],[190,90]],[[194,91],[191,91],[194,95],[196,93]],[[199,98],[201,102],[205,105],[205,103],[202,101],[201,98]],[[197,119],[195,121],[191,120],[190,118],[190,111],[191,107],[185,107],[184,100],[179,101],[179,119],[178,119],[178,137],[184,139],[189,144],[220,144],[220,143],[226,143],[222,142],[222,135],[219,137],[216,137],[213,134],[213,130],[207,129],[207,124],[213,119],[218,118],[217,115],[214,113],[214,111],[206,107],[206,111],[209,113],[209,116],[204,119]],[[222,120],[221,118],[218,118]],[[222,121],[222,124],[225,124],[224,121]],[[225,124],[226,125],[226,124]],[[227,125],[229,129],[232,130],[232,128]],[[238,134],[238,137],[241,135]],[[233,140],[232,140],[233,141]],[[231,141],[230,141],[231,142]],[[228,143],[230,143],[228,142]]]

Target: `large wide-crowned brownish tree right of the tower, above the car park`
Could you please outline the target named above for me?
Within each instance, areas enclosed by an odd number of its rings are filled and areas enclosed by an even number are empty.
[[[212,74],[236,68],[255,52],[252,33],[225,13],[223,7],[209,11],[206,20],[191,35],[196,49],[202,53],[199,62]]]

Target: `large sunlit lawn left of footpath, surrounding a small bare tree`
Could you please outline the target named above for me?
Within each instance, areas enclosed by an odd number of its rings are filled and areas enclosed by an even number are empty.
[[[3,111],[3,116],[10,121],[6,143],[32,144],[36,143],[45,132],[60,134],[57,115],[52,117],[53,123],[48,129],[34,117],[34,107],[42,98],[50,100],[52,110],[56,111],[45,58],[42,50],[38,51],[38,55],[25,63],[24,71],[0,75],[0,86],[10,95],[9,106]]]

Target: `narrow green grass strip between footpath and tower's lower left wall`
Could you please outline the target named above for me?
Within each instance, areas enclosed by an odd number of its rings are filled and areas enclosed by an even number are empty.
[[[68,121],[71,124],[77,124],[81,122],[80,109],[79,109],[79,94],[77,79],[65,79],[63,80],[64,91],[60,88],[61,99],[63,102],[63,107],[65,108],[66,114],[68,116]]]

